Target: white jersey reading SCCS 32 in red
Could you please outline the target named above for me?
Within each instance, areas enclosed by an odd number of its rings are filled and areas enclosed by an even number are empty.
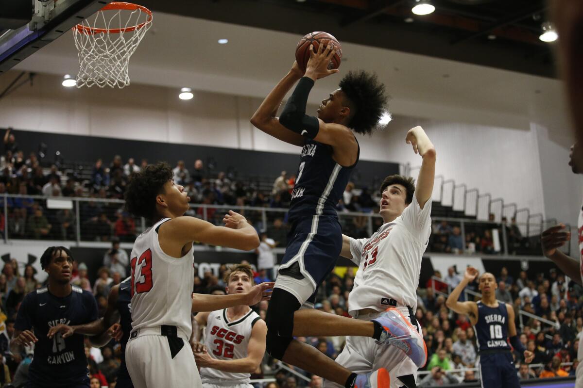
[[[229,322],[227,319],[227,309],[211,312],[206,321],[205,329],[205,345],[210,357],[227,361],[247,357],[251,330],[259,319],[261,318],[253,310],[234,322]],[[231,373],[212,368],[201,368],[203,383],[229,386],[248,384],[250,376],[249,373]]]

